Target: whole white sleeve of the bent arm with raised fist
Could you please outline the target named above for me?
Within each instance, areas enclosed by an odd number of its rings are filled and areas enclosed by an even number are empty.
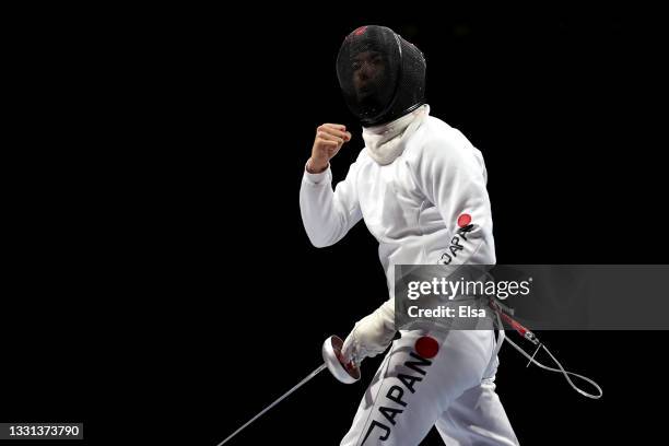
[[[351,164],[345,179],[332,190],[330,166],[319,174],[304,171],[300,188],[300,210],[304,228],[318,248],[339,242],[362,219],[355,178],[360,161]]]

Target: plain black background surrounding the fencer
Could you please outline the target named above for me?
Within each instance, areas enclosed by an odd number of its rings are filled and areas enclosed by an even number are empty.
[[[353,131],[336,180],[362,148],[334,73],[362,24],[425,52],[432,115],[482,151],[498,263],[666,262],[657,13],[413,9],[8,15],[0,419],[213,445],[387,298],[364,224],[316,249],[297,202],[318,125]],[[655,438],[666,332],[540,334],[605,396],[504,347],[523,444]],[[351,386],[321,374],[234,444],[339,444],[379,362]]]

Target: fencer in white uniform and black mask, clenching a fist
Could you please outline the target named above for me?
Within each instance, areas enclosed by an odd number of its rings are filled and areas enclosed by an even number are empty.
[[[493,331],[401,330],[392,341],[395,265],[495,263],[483,157],[459,130],[431,116],[425,67],[423,54],[388,27],[349,34],[337,75],[363,127],[364,148],[332,189],[330,160],[351,133],[324,124],[301,185],[312,244],[330,246],[364,220],[378,240],[390,291],[344,341],[344,361],[390,349],[341,445],[418,445],[432,426],[447,445],[517,445],[495,392],[500,339]],[[454,249],[463,226],[468,236]]]

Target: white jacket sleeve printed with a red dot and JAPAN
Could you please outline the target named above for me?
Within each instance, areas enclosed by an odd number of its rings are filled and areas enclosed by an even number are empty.
[[[448,248],[442,265],[494,265],[495,248],[488,173],[481,152],[461,133],[426,141],[411,171],[419,189],[437,208]]]

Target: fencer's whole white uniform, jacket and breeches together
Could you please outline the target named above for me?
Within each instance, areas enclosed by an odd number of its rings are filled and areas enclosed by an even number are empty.
[[[379,243],[391,296],[396,263],[495,263],[481,152],[429,111],[425,105],[365,128],[365,149],[334,190],[329,167],[305,172],[302,181],[312,243],[332,245],[364,219]],[[465,225],[472,226],[459,237]],[[498,345],[492,331],[401,333],[341,445],[418,445],[433,425],[448,445],[518,444],[494,391]]]

